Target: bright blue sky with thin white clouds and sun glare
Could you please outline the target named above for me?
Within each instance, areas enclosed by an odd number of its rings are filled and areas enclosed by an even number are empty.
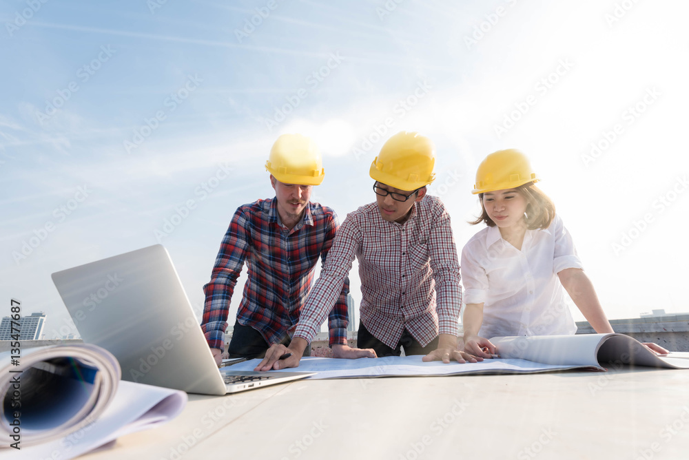
[[[688,311],[688,10],[0,1],[0,299],[63,335],[50,273],[162,242],[200,312],[232,213],[273,196],[263,165],[280,134],[316,138],[313,200],[342,220],[373,200],[371,160],[407,129],[438,148],[431,194],[458,249],[480,229],[466,224],[477,165],[519,148],[609,317]]]

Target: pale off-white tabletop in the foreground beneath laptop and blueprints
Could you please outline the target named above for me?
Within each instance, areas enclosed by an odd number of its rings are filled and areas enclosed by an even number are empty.
[[[294,381],[189,395],[82,459],[689,459],[689,370]]]

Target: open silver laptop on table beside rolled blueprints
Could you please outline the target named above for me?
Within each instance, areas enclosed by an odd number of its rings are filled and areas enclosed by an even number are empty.
[[[218,369],[160,244],[52,274],[84,342],[110,351],[122,379],[225,395],[313,373]]]

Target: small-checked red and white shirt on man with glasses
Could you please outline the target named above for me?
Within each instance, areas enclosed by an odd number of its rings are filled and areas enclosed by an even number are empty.
[[[457,335],[462,287],[450,216],[440,199],[428,195],[411,212],[402,225],[383,220],[375,202],[347,215],[295,337],[310,342],[318,333],[355,256],[361,321],[374,337],[395,348],[404,328],[422,346],[438,333]]]

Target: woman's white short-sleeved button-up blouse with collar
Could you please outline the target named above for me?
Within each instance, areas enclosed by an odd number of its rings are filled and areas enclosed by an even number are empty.
[[[476,233],[462,249],[464,302],[483,302],[480,337],[573,334],[577,326],[557,273],[583,269],[562,219],[526,230],[522,250],[497,227]]]

